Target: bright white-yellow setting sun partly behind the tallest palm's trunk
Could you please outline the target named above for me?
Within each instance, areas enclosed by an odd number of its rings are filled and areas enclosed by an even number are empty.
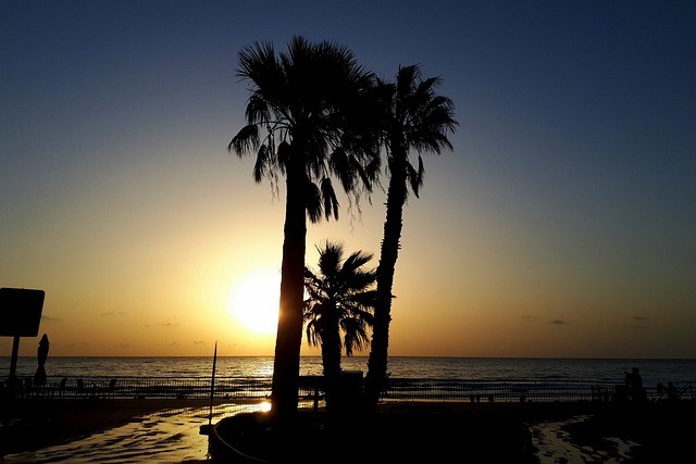
[[[281,274],[259,271],[239,280],[229,294],[229,313],[246,329],[269,335],[276,330]]]

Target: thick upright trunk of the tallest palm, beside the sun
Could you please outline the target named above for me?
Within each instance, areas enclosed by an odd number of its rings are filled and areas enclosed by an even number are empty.
[[[281,267],[281,308],[273,362],[272,412],[281,430],[291,427],[298,406],[302,298],[304,290],[304,170],[299,160],[288,163],[285,237]]]

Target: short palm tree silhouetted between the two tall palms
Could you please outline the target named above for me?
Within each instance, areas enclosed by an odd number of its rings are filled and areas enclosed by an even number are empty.
[[[326,410],[336,411],[340,381],[340,355],[368,346],[368,327],[372,326],[374,302],[374,269],[363,266],[372,254],[356,251],[345,258],[340,242],[326,241],[319,249],[319,272],[309,267],[304,272],[304,286],[309,293],[304,308],[307,340],[321,346]],[[341,340],[343,335],[343,340]]]

